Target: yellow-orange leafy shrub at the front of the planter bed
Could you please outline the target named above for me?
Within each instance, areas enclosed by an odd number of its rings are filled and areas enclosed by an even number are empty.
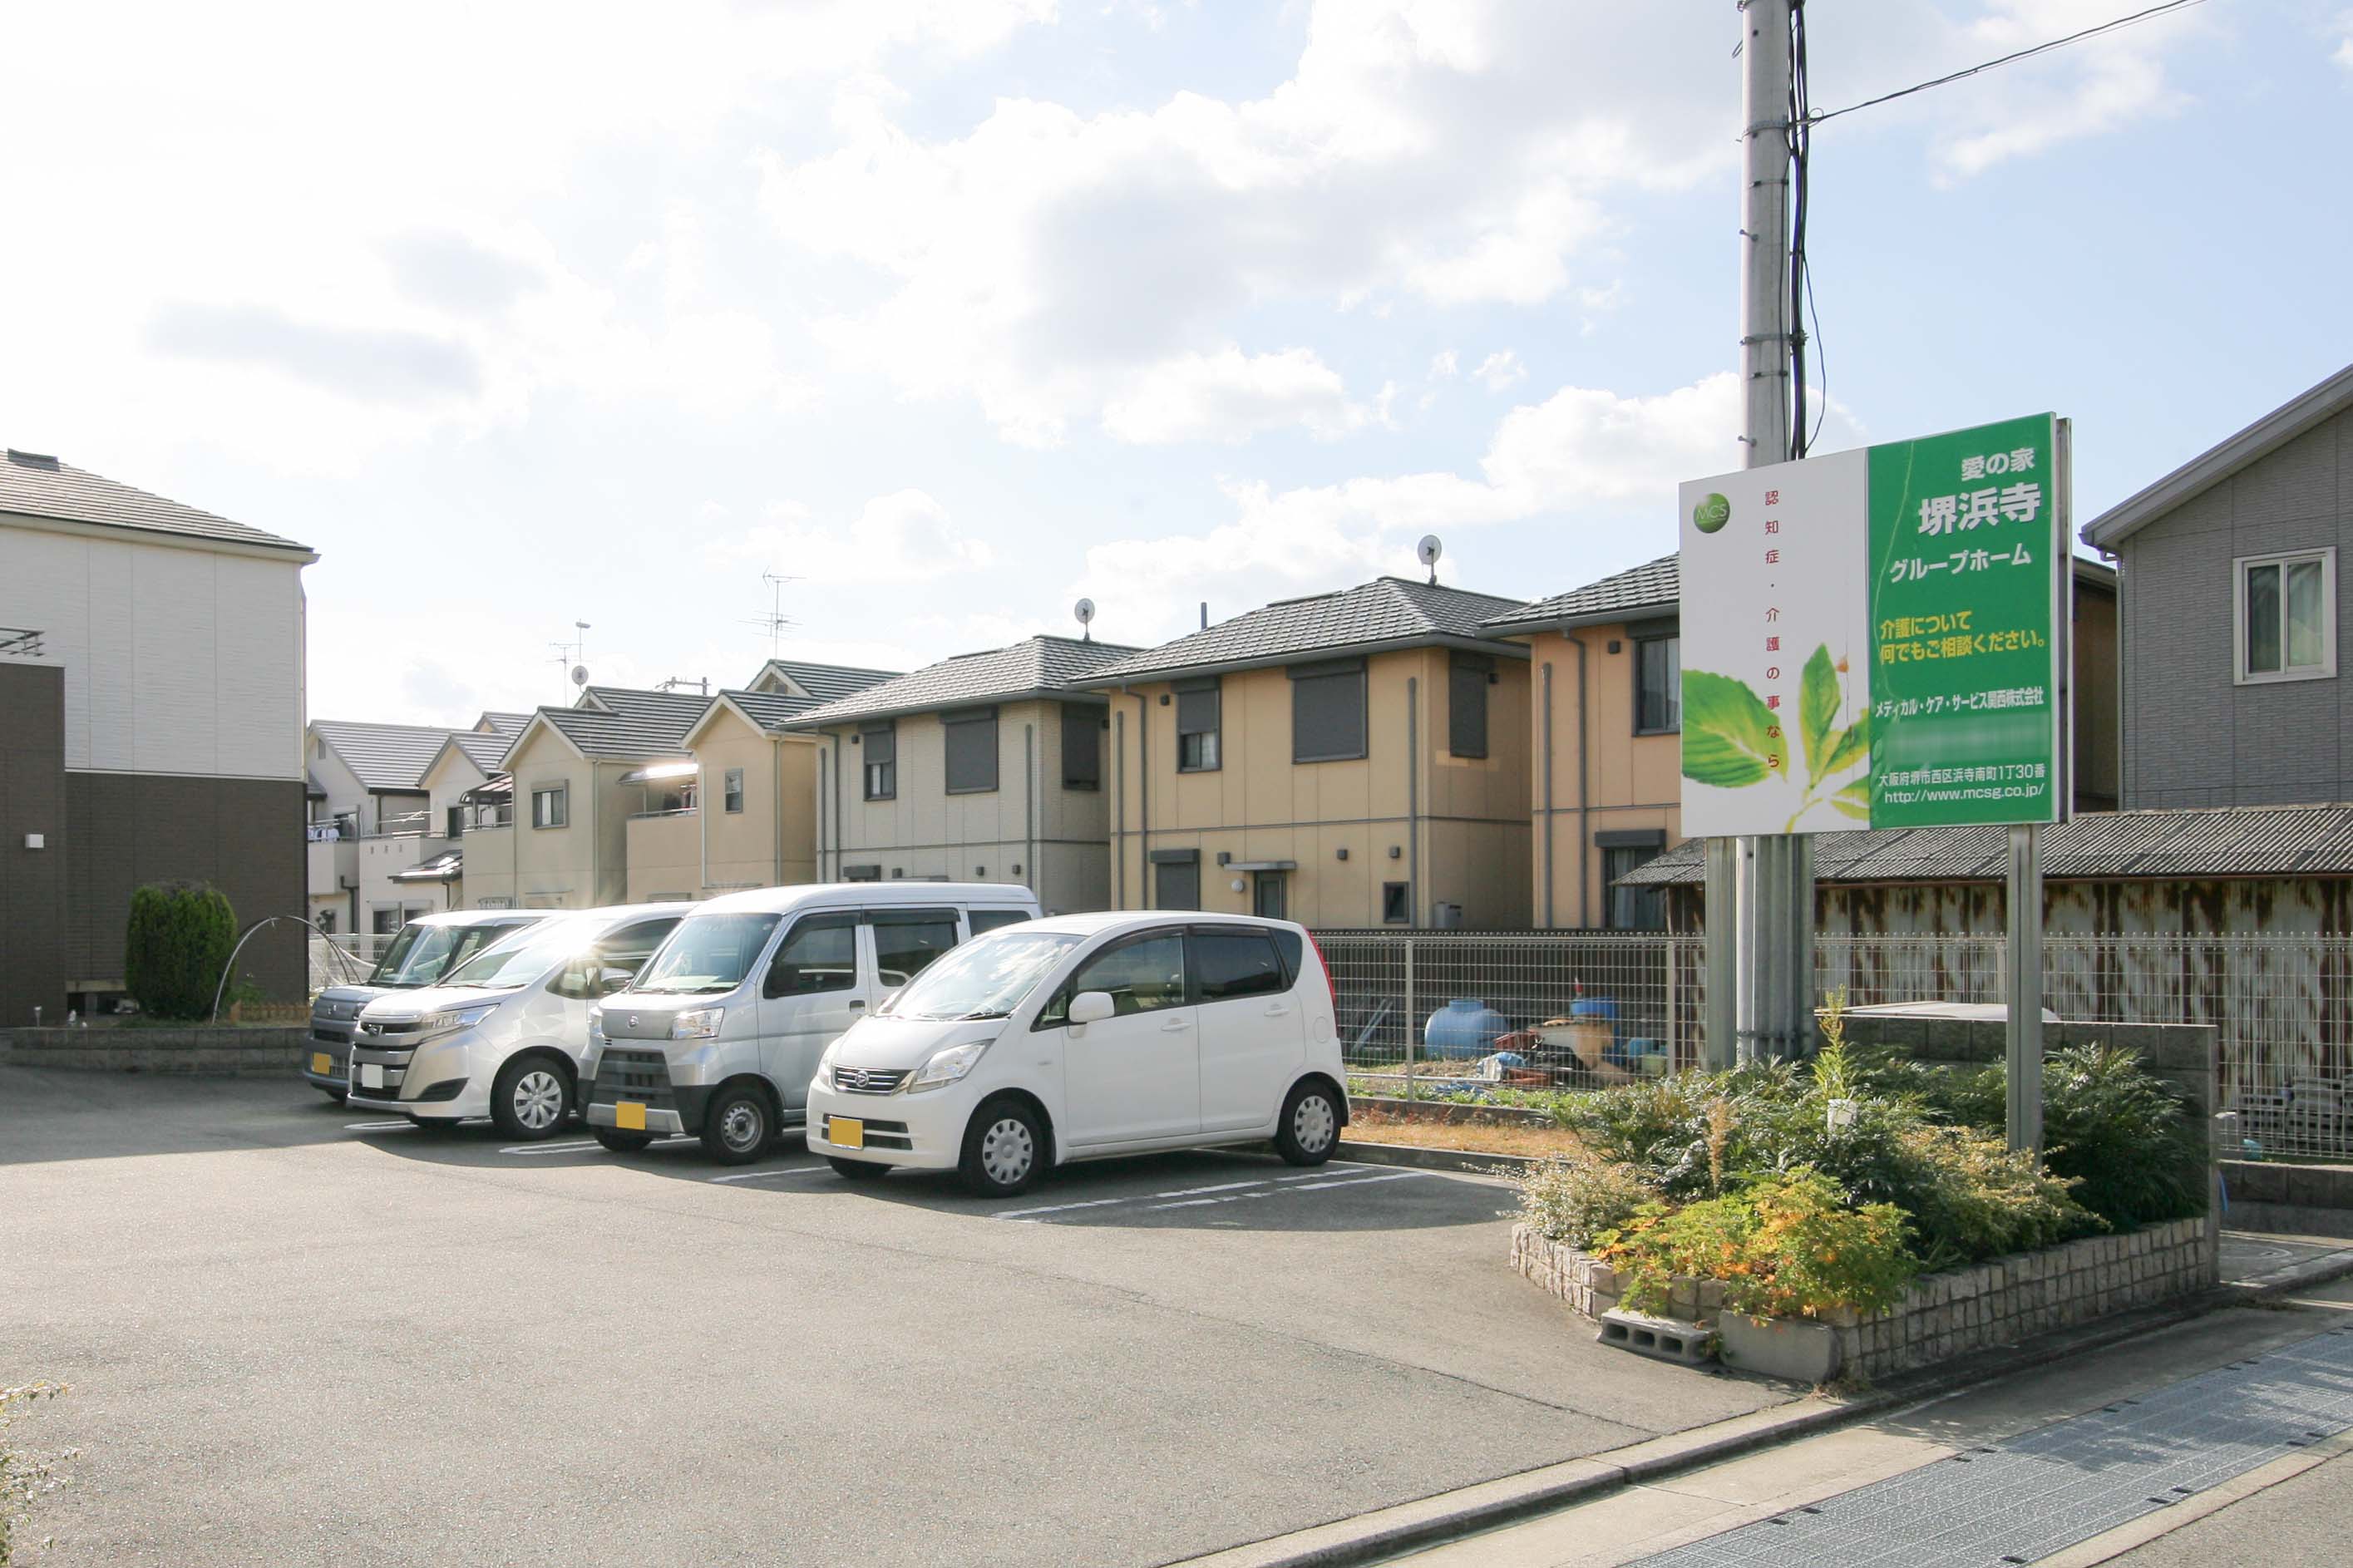
[[[1885,1311],[1920,1271],[1901,1210],[1854,1205],[1805,1168],[1675,1210],[1645,1205],[1600,1255],[1631,1276],[1624,1300],[1638,1311],[1664,1307],[1673,1276],[1692,1274],[1722,1281],[1727,1309],[1769,1318]]]

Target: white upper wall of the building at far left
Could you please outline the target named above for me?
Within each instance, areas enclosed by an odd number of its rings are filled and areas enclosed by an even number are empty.
[[[0,516],[0,626],[66,671],[66,768],[301,777],[299,563]]]

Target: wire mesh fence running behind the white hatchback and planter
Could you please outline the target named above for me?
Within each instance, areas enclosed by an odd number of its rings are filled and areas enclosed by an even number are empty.
[[[1668,932],[1315,932],[1348,1064],[1384,1088],[1598,1085],[1682,1071],[1706,1029],[1701,939]],[[2002,1001],[1984,935],[1821,937],[1852,1005]],[[2214,1024],[2224,1104],[2275,1154],[2353,1156],[2353,939],[2045,937],[2064,1019]]]

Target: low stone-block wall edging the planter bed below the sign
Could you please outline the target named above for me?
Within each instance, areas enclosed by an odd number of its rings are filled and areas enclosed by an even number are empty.
[[[1546,1241],[1525,1224],[1511,1231],[1511,1262],[1586,1316],[1617,1307],[1631,1283],[1609,1264]],[[2193,1295],[2219,1278],[2221,1257],[2207,1220],[2169,1220],[2129,1236],[2087,1236],[1972,1269],[1927,1274],[1885,1314],[1849,1311],[1828,1321],[1838,1330],[1845,1373],[1885,1377]],[[1722,1307],[1718,1281],[1678,1278],[1671,1293],[1664,1316],[1708,1323]]]

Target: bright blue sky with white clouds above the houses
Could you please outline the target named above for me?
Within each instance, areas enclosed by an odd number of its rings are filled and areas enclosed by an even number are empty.
[[[1814,0],[1831,108],[2134,9]],[[311,711],[1555,593],[1732,469],[1729,0],[42,7],[0,438],[271,527]],[[1824,125],[1819,450],[2059,410],[2078,516],[2341,367],[2353,9]]]

